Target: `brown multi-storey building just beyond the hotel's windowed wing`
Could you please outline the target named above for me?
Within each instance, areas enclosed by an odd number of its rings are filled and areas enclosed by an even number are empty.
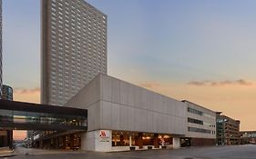
[[[216,113],[217,144],[241,144],[240,121]]]

